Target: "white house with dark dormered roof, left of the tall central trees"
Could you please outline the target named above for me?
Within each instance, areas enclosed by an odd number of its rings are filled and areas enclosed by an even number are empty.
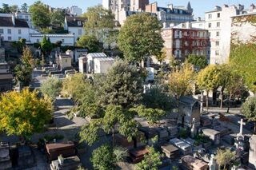
[[[74,42],[77,42],[78,38],[85,34],[85,30],[83,28],[87,18],[81,17],[65,17],[64,22],[64,30],[67,30],[69,34],[74,35]]]

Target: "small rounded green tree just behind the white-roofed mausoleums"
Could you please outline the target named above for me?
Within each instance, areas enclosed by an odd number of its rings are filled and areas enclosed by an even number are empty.
[[[90,35],[82,35],[82,37],[79,38],[77,44],[82,48],[88,49],[90,53],[96,53],[102,49],[97,38]]]

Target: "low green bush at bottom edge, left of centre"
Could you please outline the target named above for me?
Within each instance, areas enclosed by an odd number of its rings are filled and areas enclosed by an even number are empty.
[[[93,151],[90,161],[95,169],[105,170],[114,169],[119,161],[127,156],[127,150],[123,148],[111,148],[104,144]]]

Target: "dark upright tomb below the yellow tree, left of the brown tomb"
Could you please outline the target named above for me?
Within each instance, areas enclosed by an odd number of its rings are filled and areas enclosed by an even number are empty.
[[[18,168],[34,167],[34,154],[29,146],[18,146]]]

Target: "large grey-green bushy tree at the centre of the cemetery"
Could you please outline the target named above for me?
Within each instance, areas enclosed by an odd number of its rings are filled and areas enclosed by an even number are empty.
[[[122,105],[130,108],[142,99],[142,73],[127,61],[118,60],[99,82],[102,105]]]

